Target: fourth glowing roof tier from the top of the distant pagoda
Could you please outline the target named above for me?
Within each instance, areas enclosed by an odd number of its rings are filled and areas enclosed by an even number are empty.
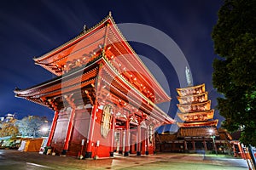
[[[214,116],[214,110],[192,113],[177,113],[177,116],[179,116],[179,118],[185,122],[202,122],[212,119]]]

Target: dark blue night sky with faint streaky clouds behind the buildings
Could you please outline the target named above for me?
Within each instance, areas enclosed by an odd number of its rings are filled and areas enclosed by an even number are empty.
[[[14,89],[30,88],[55,77],[35,65],[32,59],[76,37],[84,25],[89,28],[95,26],[109,11],[117,24],[153,26],[171,37],[189,62],[194,84],[206,83],[214,108],[219,94],[212,88],[212,60],[218,56],[213,52],[211,32],[218,20],[218,8],[222,3],[220,0],[1,1],[0,116],[15,113],[18,118],[38,115],[47,116],[51,120],[53,111],[26,99],[15,98]],[[170,91],[172,97],[166,112],[174,118],[177,112],[176,88],[180,87],[173,65],[166,62],[163,54],[148,45],[131,42],[131,46],[137,54],[153,61],[164,73],[168,84],[163,87]],[[150,71],[155,74],[152,67]],[[215,111],[214,118],[220,122],[224,120],[218,111]]]

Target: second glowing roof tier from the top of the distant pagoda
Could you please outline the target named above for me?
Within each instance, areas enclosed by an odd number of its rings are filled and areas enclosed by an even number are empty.
[[[199,102],[204,102],[208,100],[208,93],[202,93],[202,94],[193,94],[193,95],[187,95],[187,96],[177,96],[177,100],[181,105],[184,104],[194,104]]]

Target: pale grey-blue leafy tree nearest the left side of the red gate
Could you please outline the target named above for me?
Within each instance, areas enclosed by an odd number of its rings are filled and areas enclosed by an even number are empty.
[[[49,122],[45,116],[26,116],[18,120],[16,125],[19,127],[21,136],[42,137],[48,135],[49,131],[44,132],[43,127],[49,128]]]

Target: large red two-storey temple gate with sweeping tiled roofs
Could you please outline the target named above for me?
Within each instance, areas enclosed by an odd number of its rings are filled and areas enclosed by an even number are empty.
[[[55,111],[47,145],[57,154],[153,154],[154,128],[175,122],[156,105],[170,97],[111,14],[34,60],[57,77],[15,95]]]

